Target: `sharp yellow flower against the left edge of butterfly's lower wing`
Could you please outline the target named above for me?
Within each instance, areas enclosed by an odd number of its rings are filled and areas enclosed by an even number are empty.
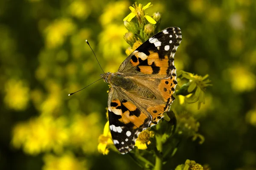
[[[103,134],[99,136],[98,151],[103,155],[108,155],[109,147],[113,145],[112,136],[109,129],[109,122],[104,127]]]

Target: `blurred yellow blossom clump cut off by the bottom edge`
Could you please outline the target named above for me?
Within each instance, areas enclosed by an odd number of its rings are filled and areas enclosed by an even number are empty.
[[[44,156],[43,170],[88,170],[88,162],[79,160],[73,153],[65,153],[61,156],[47,154]]]

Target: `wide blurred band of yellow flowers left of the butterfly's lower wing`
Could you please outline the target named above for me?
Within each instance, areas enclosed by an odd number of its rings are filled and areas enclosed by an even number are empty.
[[[40,116],[15,125],[12,144],[31,155],[51,150],[62,153],[64,147],[70,145],[81,147],[84,153],[95,153],[100,134],[99,121],[97,113],[77,114],[71,125],[64,116],[57,119]]]

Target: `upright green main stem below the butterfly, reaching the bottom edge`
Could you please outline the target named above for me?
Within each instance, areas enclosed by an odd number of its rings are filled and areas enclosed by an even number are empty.
[[[157,130],[159,130],[160,126],[156,127]],[[162,158],[162,152],[163,152],[163,144],[162,144],[162,137],[160,134],[156,135],[156,147],[157,147],[157,153],[156,153],[156,163],[154,170],[161,170],[163,165],[163,158]]]

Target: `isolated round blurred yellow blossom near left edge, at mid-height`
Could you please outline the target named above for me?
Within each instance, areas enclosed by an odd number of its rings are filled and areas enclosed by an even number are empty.
[[[5,85],[4,102],[16,111],[26,109],[29,102],[29,87],[23,80],[9,79]]]

